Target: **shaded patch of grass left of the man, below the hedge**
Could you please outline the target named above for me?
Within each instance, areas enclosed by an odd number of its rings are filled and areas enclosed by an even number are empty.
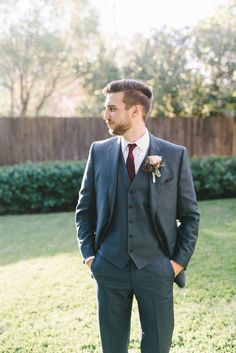
[[[0,217],[0,265],[77,251],[74,212]]]

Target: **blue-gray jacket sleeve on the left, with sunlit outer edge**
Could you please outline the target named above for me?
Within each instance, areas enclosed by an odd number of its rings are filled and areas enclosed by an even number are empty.
[[[76,207],[77,239],[84,259],[95,254],[96,193],[94,187],[94,144],[92,144]]]

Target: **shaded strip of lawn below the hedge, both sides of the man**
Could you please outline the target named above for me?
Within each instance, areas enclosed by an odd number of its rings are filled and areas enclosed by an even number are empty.
[[[208,239],[207,260],[214,247],[232,246],[236,233],[236,199],[201,201],[199,206],[200,238]],[[201,239],[198,243],[200,246]],[[0,216],[0,265],[77,252],[74,212]]]

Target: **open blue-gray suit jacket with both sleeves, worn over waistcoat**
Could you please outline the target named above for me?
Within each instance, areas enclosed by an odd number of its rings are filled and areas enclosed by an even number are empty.
[[[120,138],[92,144],[76,208],[82,256],[95,255],[111,222],[116,195]],[[199,212],[186,149],[150,134],[150,155],[163,157],[161,177],[150,182],[150,216],[166,256],[187,268],[198,236]],[[177,225],[177,220],[180,225]],[[184,286],[184,272],[177,276]]]

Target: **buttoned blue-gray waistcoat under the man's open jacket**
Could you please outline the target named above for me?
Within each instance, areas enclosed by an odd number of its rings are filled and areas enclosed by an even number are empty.
[[[123,268],[131,258],[140,269],[163,255],[149,210],[149,180],[141,168],[133,182],[120,152],[114,213],[99,253]]]

